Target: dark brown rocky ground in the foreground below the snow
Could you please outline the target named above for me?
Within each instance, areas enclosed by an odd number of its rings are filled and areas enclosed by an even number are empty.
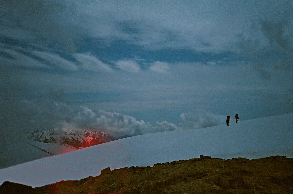
[[[4,182],[0,193],[293,193],[293,158],[204,157],[147,167],[106,168],[96,177],[31,188]]]

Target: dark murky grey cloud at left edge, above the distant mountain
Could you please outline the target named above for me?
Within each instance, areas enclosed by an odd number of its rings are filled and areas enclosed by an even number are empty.
[[[3,107],[0,110],[0,127],[3,132],[21,134],[43,131],[57,127],[60,121],[69,122],[75,115],[74,109],[64,102],[56,102],[50,98],[24,98],[19,95],[19,92],[12,92],[7,93],[6,98],[0,97]]]

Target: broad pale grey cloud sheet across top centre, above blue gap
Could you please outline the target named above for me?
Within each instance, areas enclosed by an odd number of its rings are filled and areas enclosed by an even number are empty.
[[[256,17],[253,5],[191,1],[76,4],[79,25],[106,42],[122,41],[151,50],[188,48],[217,53],[231,49],[239,29]],[[236,11],[238,7],[243,14]]]

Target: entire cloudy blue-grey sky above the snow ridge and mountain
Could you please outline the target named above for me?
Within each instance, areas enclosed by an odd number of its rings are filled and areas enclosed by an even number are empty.
[[[120,138],[292,113],[292,7],[1,1],[0,130]]]

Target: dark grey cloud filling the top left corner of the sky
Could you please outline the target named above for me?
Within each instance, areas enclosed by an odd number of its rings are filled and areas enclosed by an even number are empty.
[[[0,33],[23,42],[75,51],[81,28],[71,24],[75,6],[64,1],[1,1]],[[6,19],[4,19],[6,18]]]

